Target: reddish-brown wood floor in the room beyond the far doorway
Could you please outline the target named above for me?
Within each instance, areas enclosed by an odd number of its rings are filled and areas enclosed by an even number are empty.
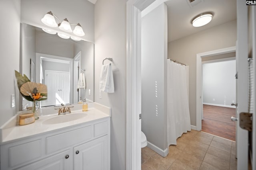
[[[236,109],[203,105],[202,131],[236,141],[236,122],[230,117],[236,117]]]

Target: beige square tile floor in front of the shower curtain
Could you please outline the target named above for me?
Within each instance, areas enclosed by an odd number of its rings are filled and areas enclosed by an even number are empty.
[[[236,170],[236,143],[200,131],[184,133],[163,158],[142,148],[142,170]]]

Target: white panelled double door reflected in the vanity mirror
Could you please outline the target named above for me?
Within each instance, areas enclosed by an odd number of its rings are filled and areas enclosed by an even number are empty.
[[[70,75],[69,72],[45,70],[45,84],[47,86],[47,100],[41,106],[52,106],[70,103]]]

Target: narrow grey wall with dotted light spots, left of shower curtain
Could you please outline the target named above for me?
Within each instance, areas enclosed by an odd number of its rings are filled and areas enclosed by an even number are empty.
[[[142,131],[148,142],[165,150],[167,148],[166,4],[161,4],[144,16],[141,27]]]

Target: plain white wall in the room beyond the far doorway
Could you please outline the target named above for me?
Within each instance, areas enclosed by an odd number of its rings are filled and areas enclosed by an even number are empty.
[[[236,61],[202,64],[203,103],[231,106],[236,103]]]

